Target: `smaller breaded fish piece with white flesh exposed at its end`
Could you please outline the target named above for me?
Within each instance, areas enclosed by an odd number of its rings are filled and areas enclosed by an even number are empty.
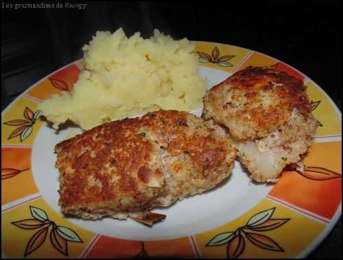
[[[203,118],[230,130],[230,141],[255,181],[276,181],[307,151],[318,127],[303,81],[249,66],[204,96]]]

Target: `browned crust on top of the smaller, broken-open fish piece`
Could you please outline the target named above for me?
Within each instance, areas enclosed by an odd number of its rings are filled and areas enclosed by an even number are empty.
[[[262,138],[283,125],[296,108],[311,112],[303,81],[270,67],[249,66],[204,96],[204,118],[214,118],[238,140]]]

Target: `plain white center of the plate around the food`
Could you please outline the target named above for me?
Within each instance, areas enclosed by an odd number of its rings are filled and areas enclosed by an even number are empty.
[[[213,68],[200,67],[200,75],[209,81],[209,88],[220,83],[230,73]],[[200,116],[201,111],[194,111]],[[49,205],[62,214],[58,207],[58,170],[54,167],[56,155],[54,146],[64,140],[76,128],[68,128],[58,134],[43,125],[34,142],[32,152],[32,172],[39,187],[40,194]],[[239,217],[256,205],[272,188],[272,185],[256,185],[241,168],[238,161],[230,176],[215,189],[201,195],[185,198],[165,209],[155,209],[167,218],[153,227],[144,226],[133,220],[80,220],[68,218],[69,221],[101,235],[123,239],[158,240],[172,239],[194,235],[225,224]]]

